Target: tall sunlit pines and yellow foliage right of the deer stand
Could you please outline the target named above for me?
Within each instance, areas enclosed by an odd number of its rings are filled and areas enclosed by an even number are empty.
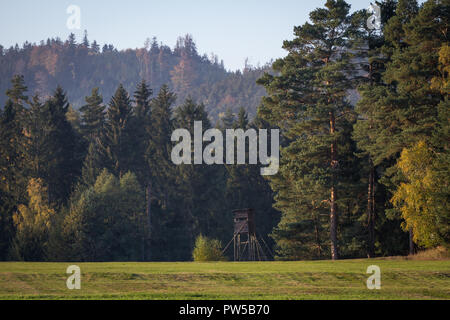
[[[285,41],[259,116],[283,135],[271,178],[284,259],[384,256],[450,243],[450,1],[329,0]],[[354,108],[348,96],[358,89]]]

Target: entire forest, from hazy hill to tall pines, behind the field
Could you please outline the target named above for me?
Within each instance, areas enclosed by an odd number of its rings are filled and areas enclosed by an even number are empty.
[[[448,248],[450,0],[376,3],[380,29],[327,0],[273,44],[286,57],[243,72],[190,36],[0,48],[0,260],[189,261],[239,208],[279,260]],[[279,129],[279,172],[175,165],[194,121]]]

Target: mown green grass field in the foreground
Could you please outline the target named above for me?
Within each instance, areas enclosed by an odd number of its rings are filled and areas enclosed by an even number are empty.
[[[66,268],[81,268],[81,289]],[[381,289],[366,287],[369,265]],[[0,299],[450,299],[450,260],[0,263]]]

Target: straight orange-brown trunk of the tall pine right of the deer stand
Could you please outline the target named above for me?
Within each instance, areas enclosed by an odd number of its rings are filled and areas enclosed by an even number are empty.
[[[335,116],[334,112],[330,112],[330,134],[335,133]],[[336,140],[331,144],[331,196],[330,196],[330,240],[331,240],[331,259],[339,259],[338,243],[337,243],[337,211],[336,211],[336,187],[335,187],[335,169],[338,165],[336,157]]]

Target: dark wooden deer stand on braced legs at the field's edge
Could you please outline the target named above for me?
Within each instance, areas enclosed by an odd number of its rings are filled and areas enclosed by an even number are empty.
[[[227,244],[225,252],[233,242],[234,261],[263,261],[268,260],[261,244],[256,237],[255,213],[253,209],[233,210],[234,234]],[[264,239],[261,238],[269,254],[270,250]]]

